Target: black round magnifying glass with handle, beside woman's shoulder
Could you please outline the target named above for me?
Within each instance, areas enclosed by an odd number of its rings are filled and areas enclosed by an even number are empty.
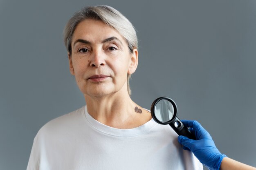
[[[169,97],[159,97],[151,105],[151,116],[159,124],[168,124],[173,130],[189,139],[195,139],[195,136],[184,126],[177,117],[177,105]]]

